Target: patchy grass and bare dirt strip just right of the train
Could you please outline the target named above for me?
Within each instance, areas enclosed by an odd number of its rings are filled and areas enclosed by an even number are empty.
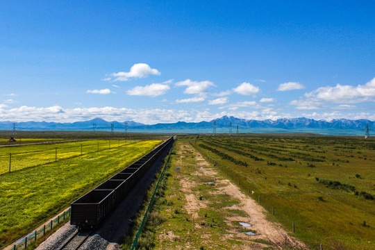
[[[188,141],[176,142],[170,166],[156,193],[138,249],[295,249],[303,246],[267,221],[264,209],[201,158]],[[242,226],[239,222],[251,225]],[[139,225],[140,219],[135,219],[135,224]],[[132,239],[126,241],[124,249],[129,249]]]

